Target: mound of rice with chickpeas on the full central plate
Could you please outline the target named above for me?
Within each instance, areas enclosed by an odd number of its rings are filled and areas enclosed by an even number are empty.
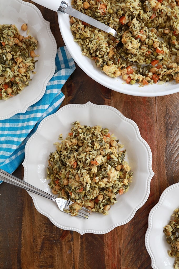
[[[82,206],[107,215],[117,195],[129,190],[133,173],[124,160],[126,150],[119,150],[122,145],[107,128],[81,126],[78,121],[72,125],[49,155],[49,186],[53,194],[74,201],[67,210],[71,215]]]

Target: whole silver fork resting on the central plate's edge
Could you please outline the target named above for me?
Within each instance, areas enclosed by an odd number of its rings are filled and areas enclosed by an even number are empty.
[[[20,188],[25,189],[25,190],[28,190],[30,192],[39,194],[45,198],[48,198],[48,199],[56,202],[59,209],[64,213],[67,213],[64,210],[67,210],[69,208],[69,206],[72,203],[74,203],[70,199],[65,200],[63,198],[54,197],[51,194],[46,193],[43,190],[40,190],[40,189],[32,186],[31,184],[25,182],[24,180],[21,180],[21,179],[17,178],[16,176],[9,174],[8,172],[6,172],[2,169],[0,169],[0,179],[3,180],[4,182],[10,183],[12,185],[15,185],[15,186],[20,187]],[[70,213],[67,213],[67,214],[70,214]],[[90,216],[90,214],[91,214],[91,211],[89,209],[87,209],[86,207],[82,207],[80,210],[78,210],[78,215],[76,215],[76,217],[87,219]]]

